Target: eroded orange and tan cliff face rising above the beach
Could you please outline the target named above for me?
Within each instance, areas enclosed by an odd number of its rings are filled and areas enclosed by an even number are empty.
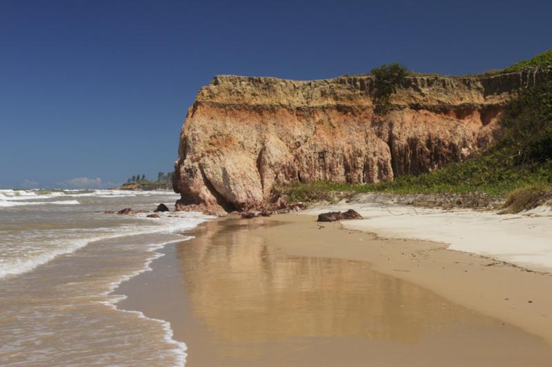
[[[267,207],[275,185],[377,182],[463,160],[492,142],[509,99],[535,83],[497,76],[412,76],[374,113],[373,76],[319,81],[215,76],[182,127],[177,209]]]

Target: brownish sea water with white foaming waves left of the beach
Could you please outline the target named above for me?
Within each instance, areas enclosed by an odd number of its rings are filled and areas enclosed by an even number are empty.
[[[166,191],[0,190],[1,366],[184,366],[170,325],[117,308],[117,286],[156,250],[188,240],[201,213],[152,211]],[[162,302],[162,300],[159,300]]]

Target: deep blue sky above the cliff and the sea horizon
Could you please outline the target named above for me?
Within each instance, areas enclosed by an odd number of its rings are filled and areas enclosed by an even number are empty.
[[[109,187],[177,158],[215,74],[468,74],[552,48],[552,1],[0,0],[0,187]]]

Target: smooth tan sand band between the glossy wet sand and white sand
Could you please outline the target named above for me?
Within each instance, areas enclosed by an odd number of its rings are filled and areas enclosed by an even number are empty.
[[[320,224],[315,217],[303,214],[285,220],[285,228],[259,234],[286,253],[370,262],[375,271],[413,282],[455,304],[524,328],[552,345],[551,273],[452,251],[437,242],[386,239],[352,229],[362,228],[363,220]],[[286,236],[297,240],[286,240]]]

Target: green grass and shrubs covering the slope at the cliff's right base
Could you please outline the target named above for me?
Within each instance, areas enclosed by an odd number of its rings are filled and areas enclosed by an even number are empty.
[[[418,176],[375,184],[295,183],[282,187],[291,201],[331,200],[332,193],[485,193],[531,207],[552,196],[552,81],[526,90],[506,106],[502,136],[464,162]]]

